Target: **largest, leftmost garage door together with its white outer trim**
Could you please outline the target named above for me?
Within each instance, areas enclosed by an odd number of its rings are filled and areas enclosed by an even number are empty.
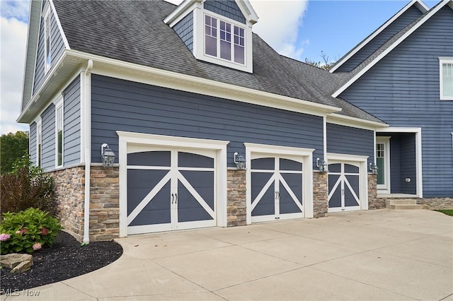
[[[120,236],[226,225],[226,144],[117,132]]]

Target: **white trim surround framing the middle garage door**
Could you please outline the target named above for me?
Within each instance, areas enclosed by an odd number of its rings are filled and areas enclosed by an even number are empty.
[[[296,156],[302,158],[304,167],[303,172],[303,203],[304,217],[313,217],[313,148],[294,148],[289,146],[270,146],[265,144],[256,143],[243,143],[246,146],[246,182],[247,182],[247,224],[252,223],[251,209],[252,209],[252,196],[251,196],[251,160],[259,158],[263,155],[270,157],[279,156]],[[289,216],[287,216],[289,217]]]

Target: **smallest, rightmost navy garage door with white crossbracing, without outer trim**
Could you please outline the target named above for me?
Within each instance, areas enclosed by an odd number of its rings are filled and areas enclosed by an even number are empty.
[[[328,212],[360,210],[360,165],[328,165]]]

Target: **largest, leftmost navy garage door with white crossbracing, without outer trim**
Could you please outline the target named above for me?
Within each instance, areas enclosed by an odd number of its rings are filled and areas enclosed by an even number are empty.
[[[216,225],[215,152],[127,154],[127,233]]]

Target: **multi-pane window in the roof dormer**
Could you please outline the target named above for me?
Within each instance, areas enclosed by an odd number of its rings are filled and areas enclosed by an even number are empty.
[[[245,28],[205,14],[205,54],[246,64]]]

